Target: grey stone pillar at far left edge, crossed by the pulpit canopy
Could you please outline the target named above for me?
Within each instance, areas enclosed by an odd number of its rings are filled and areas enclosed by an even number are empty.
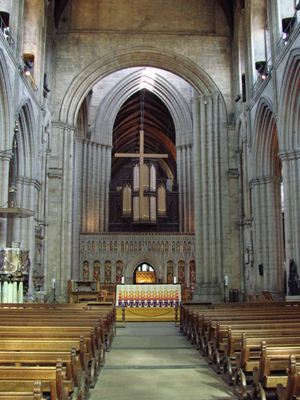
[[[0,153],[0,206],[7,207],[9,163],[12,153]],[[6,247],[7,219],[0,218],[0,247]]]

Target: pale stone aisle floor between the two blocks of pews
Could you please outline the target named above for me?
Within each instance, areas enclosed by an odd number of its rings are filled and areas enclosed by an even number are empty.
[[[90,400],[236,399],[171,322],[117,329]]]

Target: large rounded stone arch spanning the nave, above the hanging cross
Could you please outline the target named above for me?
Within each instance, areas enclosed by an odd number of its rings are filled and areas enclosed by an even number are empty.
[[[100,58],[75,77],[62,100],[59,119],[62,122],[75,125],[80,105],[95,83],[115,71],[130,67],[164,69],[183,78],[199,93],[220,93],[217,85],[208,74],[186,57],[155,48],[127,49]],[[227,116],[222,96],[221,99],[224,114]]]

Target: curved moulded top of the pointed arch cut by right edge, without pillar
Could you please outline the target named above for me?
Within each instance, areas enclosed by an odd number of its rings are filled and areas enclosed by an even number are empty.
[[[297,149],[300,147],[300,48],[291,51],[279,98],[280,150]]]

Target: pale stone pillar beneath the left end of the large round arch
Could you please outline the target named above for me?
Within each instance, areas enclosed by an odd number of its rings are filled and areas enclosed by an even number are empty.
[[[66,298],[71,277],[73,217],[73,151],[75,127],[53,122],[53,149],[48,169],[47,289],[56,279],[57,295]],[[50,272],[51,271],[51,272]],[[61,301],[59,300],[59,301]]]

